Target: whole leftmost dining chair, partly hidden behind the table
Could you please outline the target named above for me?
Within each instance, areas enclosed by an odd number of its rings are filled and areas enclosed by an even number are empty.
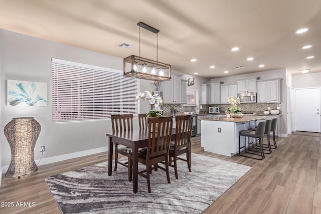
[[[132,125],[133,114],[116,114],[111,115],[111,126],[112,132],[121,132],[121,131],[130,131],[133,129]],[[121,162],[118,160],[118,154],[122,154],[127,156],[127,162]],[[121,146],[115,143],[115,168],[117,170],[117,164],[123,165],[128,168],[128,180],[132,180],[131,175],[131,155],[132,155],[132,148]]]

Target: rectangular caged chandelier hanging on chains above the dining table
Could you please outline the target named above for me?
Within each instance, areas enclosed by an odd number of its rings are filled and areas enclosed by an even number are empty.
[[[124,75],[147,80],[171,79],[171,65],[158,62],[159,31],[142,22],[137,23],[137,26],[139,27],[139,57],[131,55],[124,58]],[[140,27],[156,34],[156,61],[140,57]]]

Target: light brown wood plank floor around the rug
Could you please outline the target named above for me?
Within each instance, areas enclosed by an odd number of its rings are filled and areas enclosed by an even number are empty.
[[[320,137],[292,134],[277,139],[277,144],[264,160],[253,160],[204,152],[201,138],[193,137],[192,152],[252,167],[204,213],[321,213]],[[107,153],[99,153],[41,165],[38,172],[20,179],[3,175],[1,205],[14,202],[14,207],[0,206],[0,213],[60,213],[44,178],[106,160]]]

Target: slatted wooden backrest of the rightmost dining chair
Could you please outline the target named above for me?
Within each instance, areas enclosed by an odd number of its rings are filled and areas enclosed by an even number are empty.
[[[192,137],[193,115],[176,116],[175,148],[180,149],[189,146]]]

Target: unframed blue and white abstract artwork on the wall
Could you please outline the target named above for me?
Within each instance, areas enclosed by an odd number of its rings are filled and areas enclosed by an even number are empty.
[[[47,106],[47,83],[8,80],[9,106]]]

